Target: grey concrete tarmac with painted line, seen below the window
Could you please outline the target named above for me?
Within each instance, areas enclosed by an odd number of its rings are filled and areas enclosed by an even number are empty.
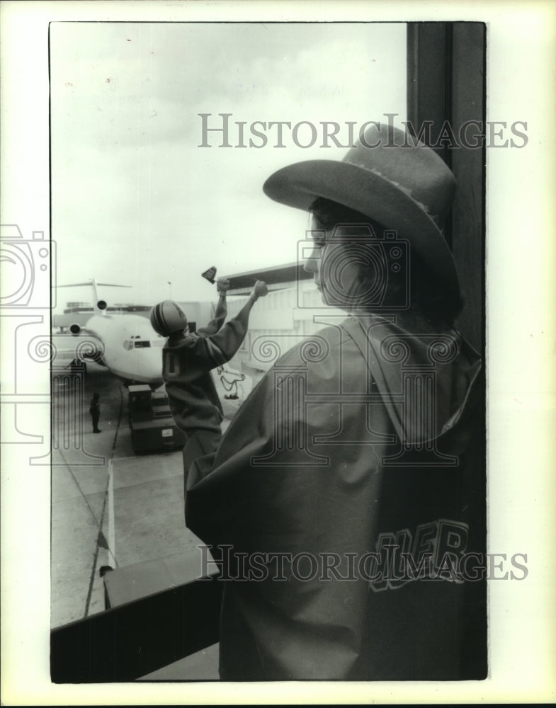
[[[69,385],[53,380],[54,406]],[[81,386],[81,411],[58,416],[63,426],[52,449],[52,627],[105,610],[103,566],[122,569],[182,554],[190,566],[199,559],[200,567],[202,541],[184,520],[181,451],[135,455],[123,384],[89,364]],[[93,392],[100,394],[98,434],[89,415]],[[227,404],[223,428],[234,406]],[[145,678],[217,679],[217,646]]]

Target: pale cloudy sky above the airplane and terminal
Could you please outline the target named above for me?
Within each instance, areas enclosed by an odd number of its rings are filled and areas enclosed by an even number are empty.
[[[52,239],[57,282],[96,278],[110,302],[212,299],[200,277],[295,261],[307,215],[269,200],[273,171],[341,159],[322,147],[321,121],[395,122],[406,113],[403,23],[52,23],[50,25]],[[220,113],[231,114],[220,147]],[[267,137],[264,147],[250,147]],[[271,121],[310,122],[298,147]],[[243,143],[237,122],[244,122]],[[297,132],[309,145],[310,126]],[[246,147],[237,147],[246,144]],[[169,285],[171,283],[171,285]],[[122,295],[125,293],[125,295]],[[59,290],[56,312],[86,301]]]

